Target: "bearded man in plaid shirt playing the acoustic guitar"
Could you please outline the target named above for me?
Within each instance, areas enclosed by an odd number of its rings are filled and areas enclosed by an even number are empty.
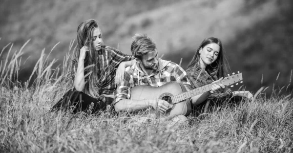
[[[133,111],[152,107],[165,113],[170,104],[160,99],[130,99],[130,88],[147,85],[153,87],[162,86],[171,81],[181,82],[187,90],[191,89],[186,72],[179,65],[162,60],[158,57],[156,44],[146,35],[136,34],[131,43],[132,55],[136,63],[126,68],[124,80],[117,87],[117,94],[114,98],[116,111]],[[214,87],[217,89],[217,87]],[[200,96],[200,95],[198,95]],[[174,115],[176,116],[176,115]],[[173,117],[173,116],[172,116]],[[187,120],[183,115],[177,116],[180,120]],[[166,117],[168,120],[169,116]],[[162,119],[162,121],[166,121]]]

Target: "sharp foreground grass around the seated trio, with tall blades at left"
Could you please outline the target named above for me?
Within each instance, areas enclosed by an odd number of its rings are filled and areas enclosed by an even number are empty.
[[[190,115],[186,125],[143,122],[139,116],[113,116],[109,111],[97,116],[49,112],[72,87],[69,53],[63,65],[53,69],[56,60],[49,63],[49,55],[42,52],[30,77],[36,79],[22,85],[14,81],[20,77],[22,49],[1,61],[1,153],[293,152],[293,99],[278,94],[266,98],[263,88],[251,102]]]

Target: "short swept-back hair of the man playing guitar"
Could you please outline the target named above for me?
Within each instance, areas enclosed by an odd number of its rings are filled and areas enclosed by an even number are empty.
[[[143,54],[155,51],[156,44],[146,34],[135,34],[130,45],[131,53],[135,58],[141,59]]]

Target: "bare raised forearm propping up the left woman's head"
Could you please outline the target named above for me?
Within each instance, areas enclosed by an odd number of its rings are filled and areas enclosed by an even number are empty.
[[[87,46],[84,46],[80,50],[80,57],[78,61],[77,71],[74,78],[74,87],[77,91],[83,91],[84,89],[84,58],[85,53],[88,51]]]

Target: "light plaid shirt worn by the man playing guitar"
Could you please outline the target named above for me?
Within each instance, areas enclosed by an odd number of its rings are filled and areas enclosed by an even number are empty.
[[[148,75],[144,73],[139,64],[128,66],[125,71],[124,81],[117,87],[117,94],[114,96],[114,104],[122,99],[130,99],[130,88],[135,86],[159,87],[171,81],[182,82],[189,91],[192,87],[188,81],[185,70],[179,65],[159,58],[160,66],[156,72]],[[166,66],[164,66],[166,65]]]

